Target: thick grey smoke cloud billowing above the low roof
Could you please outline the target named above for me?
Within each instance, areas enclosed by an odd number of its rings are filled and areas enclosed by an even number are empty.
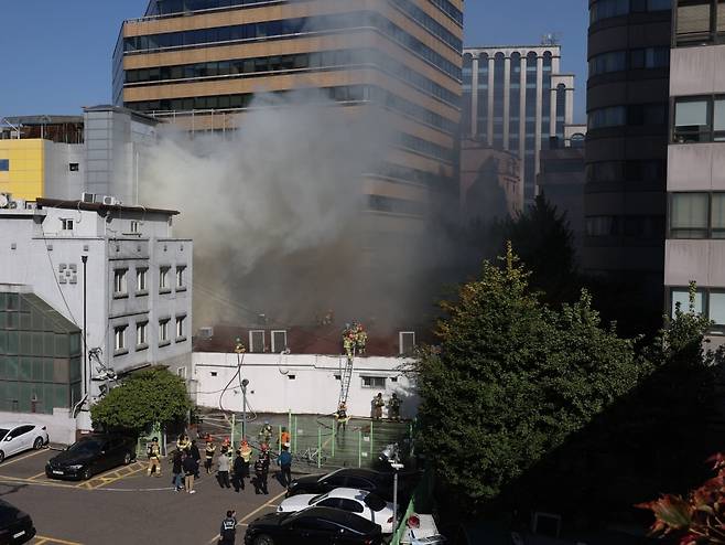
[[[318,93],[263,96],[226,136],[167,130],[149,150],[142,201],[181,211],[175,235],[194,238],[195,324],[309,324],[403,311],[413,290],[404,248],[366,237],[362,174],[392,145],[389,116],[342,107]],[[388,265],[369,267],[370,255]],[[371,295],[372,293],[372,295]]]

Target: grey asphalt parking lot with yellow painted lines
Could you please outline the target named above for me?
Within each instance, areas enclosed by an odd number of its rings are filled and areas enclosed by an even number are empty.
[[[0,463],[0,498],[33,517],[37,530],[33,545],[210,545],[228,509],[237,511],[237,543],[241,543],[246,524],[274,511],[284,498],[273,472],[269,495],[256,495],[249,482],[240,493],[220,489],[215,477],[204,472],[195,484],[196,494],[174,492],[165,460],[160,478],[147,477],[144,461],[138,461],[89,481],[56,481],[44,471],[56,453],[43,449]]]

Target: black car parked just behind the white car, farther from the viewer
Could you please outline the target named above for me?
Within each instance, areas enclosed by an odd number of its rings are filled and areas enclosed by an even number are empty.
[[[399,480],[399,493],[403,479]],[[367,490],[380,498],[392,501],[392,473],[371,469],[345,468],[324,475],[301,477],[290,485],[288,496],[295,494],[324,494],[337,488]]]

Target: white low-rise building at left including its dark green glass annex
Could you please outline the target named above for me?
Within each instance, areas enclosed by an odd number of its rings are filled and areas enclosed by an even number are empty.
[[[51,199],[0,207],[0,410],[77,412],[154,364],[186,376],[193,246],[173,237],[175,214]],[[78,427],[90,429],[87,412]]]

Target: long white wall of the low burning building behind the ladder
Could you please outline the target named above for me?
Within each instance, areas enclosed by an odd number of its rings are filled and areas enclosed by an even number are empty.
[[[224,387],[237,372],[237,354],[195,352],[192,354],[192,396],[204,407],[241,412],[241,389],[238,378]],[[370,416],[372,397],[382,393],[386,400],[396,392],[403,400],[402,415],[410,418],[418,412],[419,398],[412,378],[403,375],[401,357],[359,357],[355,360],[348,396],[348,413]],[[339,356],[313,354],[245,354],[241,377],[249,380],[247,399],[257,413],[332,414],[337,408],[339,374],[345,360]],[[292,378],[294,376],[294,378]],[[364,376],[386,377],[385,388],[362,386]],[[383,412],[387,415],[387,412]]]

